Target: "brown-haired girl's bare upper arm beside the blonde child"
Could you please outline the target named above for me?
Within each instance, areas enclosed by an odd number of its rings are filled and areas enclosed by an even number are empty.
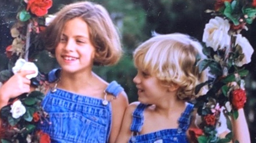
[[[126,107],[128,106],[128,98],[124,91],[122,91],[117,99],[111,101],[112,104],[112,126],[109,137],[109,143],[114,143],[121,128],[122,119]]]

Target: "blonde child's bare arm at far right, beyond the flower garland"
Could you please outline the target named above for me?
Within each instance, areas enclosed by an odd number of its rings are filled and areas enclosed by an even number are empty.
[[[250,143],[250,133],[248,129],[248,125],[245,119],[245,112],[244,109],[238,109],[238,118],[231,119],[232,128],[233,128],[233,142],[238,140],[240,143]]]

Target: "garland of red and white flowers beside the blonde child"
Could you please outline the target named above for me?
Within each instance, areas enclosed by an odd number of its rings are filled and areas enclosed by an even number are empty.
[[[208,58],[197,66],[200,72],[209,69],[211,80],[196,87],[198,92],[208,85],[209,91],[196,101],[200,129],[190,131],[190,135],[199,143],[225,143],[232,139],[230,118],[237,119],[238,109],[246,102],[244,77],[248,70],[243,65],[251,61],[254,50],[240,32],[248,30],[246,25],[255,19],[256,0],[216,0],[214,10],[206,12],[213,16],[203,33],[203,53]],[[222,126],[231,132],[220,139]]]

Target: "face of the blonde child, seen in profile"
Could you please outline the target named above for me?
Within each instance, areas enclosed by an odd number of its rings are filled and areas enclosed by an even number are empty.
[[[162,86],[155,76],[151,76],[139,69],[137,75],[133,79],[133,82],[138,88],[138,100],[141,103],[156,104],[160,100],[163,100],[165,95],[168,94],[168,88]]]

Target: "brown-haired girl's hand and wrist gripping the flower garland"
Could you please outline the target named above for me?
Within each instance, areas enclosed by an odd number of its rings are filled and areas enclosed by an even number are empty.
[[[33,73],[35,73],[35,71],[19,71],[0,87],[0,108],[7,105],[9,99],[30,91],[31,81],[26,78],[26,75]]]

